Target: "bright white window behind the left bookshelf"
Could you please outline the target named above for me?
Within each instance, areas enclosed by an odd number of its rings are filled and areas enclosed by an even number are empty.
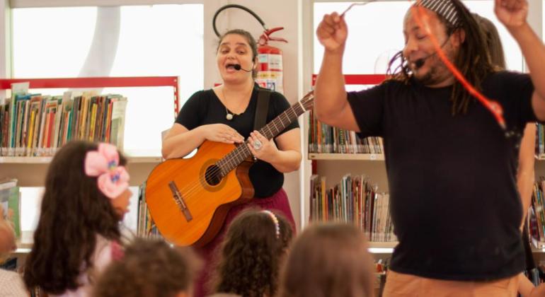
[[[180,98],[189,98],[204,85],[203,24],[202,4],[14,8],[13,77],[179,76]],[[129,100],[125,151],[159,156],[174,120],[172,88],[99,92]]]

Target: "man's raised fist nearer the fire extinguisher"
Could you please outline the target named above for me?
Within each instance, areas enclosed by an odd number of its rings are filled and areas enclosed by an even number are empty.
[[[321,45],[329,52],[344,50],[348,28],[345,18],[334,12],[323,16],[323,20],[316,29],[316,36]]]

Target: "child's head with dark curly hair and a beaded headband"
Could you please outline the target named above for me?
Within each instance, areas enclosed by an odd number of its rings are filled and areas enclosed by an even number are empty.
[[[291,240],[292,226],[283,216],[255,210],[237,216],[224,238],[215,291],[274,296]]]

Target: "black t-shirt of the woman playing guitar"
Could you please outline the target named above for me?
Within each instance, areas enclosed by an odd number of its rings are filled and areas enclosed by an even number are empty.
[[[226,120],[225,105],[217,98],[212,89],[198,91],[183,105],[178,117],[176,117],[176,122],[189,130],[205,124],[226,124],[247,139],[250,132],[253,131],[253,120],[256,117],[258,102],[258,88],[256,84],[246,110],[240,115],[234,115],[232,120]],[[266,122],[274,120],[277,115],[280,115],[289,107],[288,101],[282,94],[272,92],[269,98]],[[299,123],[294,121],[278,135],[298,127]],[[269,197],[280,190],[284,184],[284,175],[272,167],[270,163],[260,160],[252,165],[249,176],[256,191],[255,197]]]

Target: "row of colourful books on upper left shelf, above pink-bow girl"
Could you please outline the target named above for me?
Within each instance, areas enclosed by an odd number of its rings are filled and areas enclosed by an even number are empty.
[[[0,156],[53,156],[76,139],[122,150],[126,109],[122,95],[13,93],[0,104]]]

